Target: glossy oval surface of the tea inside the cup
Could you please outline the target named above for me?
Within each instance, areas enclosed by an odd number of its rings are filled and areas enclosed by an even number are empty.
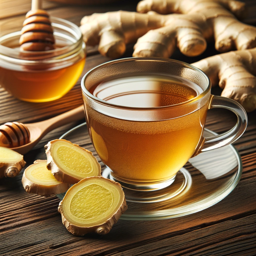
[[[95,87],[94,87],[95,88]],[[195,83],[176,76],[132,76],[100,83],[91,93],[110,103],[137,108],[175,105],[202,92]]]

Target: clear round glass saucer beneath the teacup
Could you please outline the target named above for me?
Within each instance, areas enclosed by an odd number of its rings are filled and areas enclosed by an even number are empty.
[[[205,137],[214,135],[215,132],[204,130]],[[90,150],[102,167],[102,176],[109,178],[110,171],[95,152],[86,123],[69,130],[60,139]],[[241,174],[241,157],[232,145],[201,153],[189,159],[169,187],[148,192],[123,188],[128,209],[120,219],[169,219],[204,210],[225,198],[236,187]],[[57,197],[62,200],[64,195]]]

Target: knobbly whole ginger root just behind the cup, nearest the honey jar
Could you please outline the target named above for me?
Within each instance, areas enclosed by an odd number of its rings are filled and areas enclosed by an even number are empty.
[[[158,29],[157,29],[158,28]],[[99,52],[111,58],[122,56],[126,44],[137,41],[134,57],[170,57],[177,47],[187,56],[206,49],[211,30],[199,15],[160,15],[155,12],[95,13],[81,20],[80,29],[87,45],[99,44]]]

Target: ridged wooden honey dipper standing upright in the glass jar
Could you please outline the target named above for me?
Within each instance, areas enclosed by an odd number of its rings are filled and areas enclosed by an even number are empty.
[[[49,15],[41,9],[40,0],[32,0],[19,39],[24,51],[47,51],[54,49],[54,36]]]

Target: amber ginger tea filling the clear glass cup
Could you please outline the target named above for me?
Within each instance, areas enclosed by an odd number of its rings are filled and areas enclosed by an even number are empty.
[[[102,114],[86,104],[91,140],[113,171],[111,175],[131,182],[160,182],[174,176],[195,152],[208,109],[205,104],[184,114],[175,105],[201,92],[201,87],[187,79],[159,74],[138,74],[93,86],[90,93],[109,103],[144,110],[173,106],[167,111],[179,116],[130,121]]]

